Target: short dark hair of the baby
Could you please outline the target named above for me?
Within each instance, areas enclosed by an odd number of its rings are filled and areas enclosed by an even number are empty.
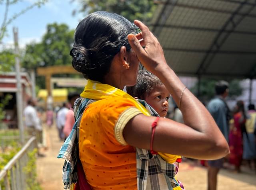
[[[144,100],[158,85],[163,85],[163,83],[156,75],[147,70],[140,70],[138,72],[136,85],[126,86],[126,91],[132,97]]]

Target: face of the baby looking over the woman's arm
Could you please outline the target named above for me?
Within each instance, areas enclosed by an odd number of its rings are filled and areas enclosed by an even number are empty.
[[[145,97],[145,101],[156,110],[160,117],[164,118],[168,112],[170,92],[164,85],[158,85]]]

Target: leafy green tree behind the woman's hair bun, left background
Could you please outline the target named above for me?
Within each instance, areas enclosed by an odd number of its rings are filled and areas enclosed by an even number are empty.
[[[69,52],[74,42],[74,30],[66,24],[48,24],[42,42],[26,45],[22,66],[27,69],[52,65],[69,65]]]

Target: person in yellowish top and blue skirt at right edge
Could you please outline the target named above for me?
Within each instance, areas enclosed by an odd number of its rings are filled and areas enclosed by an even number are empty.
[[[243,133],[243,159],[248,160],[250,168],[252,161],[254,161],[254,169],[256,171],[256,138],[254,135],[254,131],[256,130],[256,110],[254,104],[248,106],[247,116],[248,119],[246,119],[245,123],[247,133]]]

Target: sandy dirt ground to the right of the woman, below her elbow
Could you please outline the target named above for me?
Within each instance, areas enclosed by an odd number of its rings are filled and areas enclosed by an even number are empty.
[[[241,173],[231,169],[222,169],[218,175],[218,190],[256,190],[256,173],[242,166]],[[207,190],[207,168],[196,161],[185,160],[180,164],[177,179],[186,190]]]

